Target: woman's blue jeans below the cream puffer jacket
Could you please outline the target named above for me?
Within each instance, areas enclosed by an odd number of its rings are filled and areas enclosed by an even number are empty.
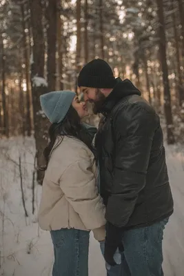
[[[52,230],[54,266],[52,276],[88,276],[90,233],[76,229]]]

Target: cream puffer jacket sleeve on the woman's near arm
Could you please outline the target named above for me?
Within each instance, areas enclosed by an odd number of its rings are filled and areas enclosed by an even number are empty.
[[[105,206],[98,193],[96,177],[92,172],[92,161],[79,159],[71,164],[60,179],[60,186],[66,199],[70,202],[75,212],[79,214],[81,221],[88,230],[99,229],[102,236],[101,226],[105,225]],[[98,236],[98,230],[94,235]],[[103,238],[105,228],[103,228]],[[97,238],[98,239],[98,238]],[[99,237],[99,240],[101,237]]]

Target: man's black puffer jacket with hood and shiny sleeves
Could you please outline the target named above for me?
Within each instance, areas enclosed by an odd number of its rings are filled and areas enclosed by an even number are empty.
[[[159,116],[131,81],[118,80],[96,134],[106,219],[124,229],[173,213]]]

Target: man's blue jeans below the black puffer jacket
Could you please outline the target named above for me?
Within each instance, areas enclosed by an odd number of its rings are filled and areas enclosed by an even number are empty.
[[[121,264],[107,270],[107,276],[163,276],[163,230],[168,219],[152,226],[126,230]]]

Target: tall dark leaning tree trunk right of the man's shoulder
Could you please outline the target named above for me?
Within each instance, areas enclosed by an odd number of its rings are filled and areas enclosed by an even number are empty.
[[[167,56],[166,56],[166,38],[165,38],[165,21],[163,14],[163,0],[156,0],[158,6],[158,17],[159,17],[159,51],[161,66],[163,71],[163,88],[164,88],[164,109],[165,119],[167,125],[167,143],[174,144],[174,126],[172,119],[172,108],[171,108],[171,95],[170,95],[170,83],[168,79],[168,67],[167,67]]]

